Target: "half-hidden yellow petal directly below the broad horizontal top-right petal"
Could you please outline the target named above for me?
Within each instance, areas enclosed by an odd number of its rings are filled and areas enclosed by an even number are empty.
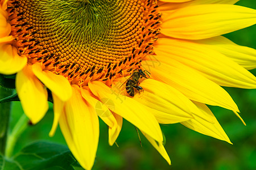
[[[222,36],[193,42],[224,54],[247,70],[256,68],[256,50],[253,48],[237,45]]]

